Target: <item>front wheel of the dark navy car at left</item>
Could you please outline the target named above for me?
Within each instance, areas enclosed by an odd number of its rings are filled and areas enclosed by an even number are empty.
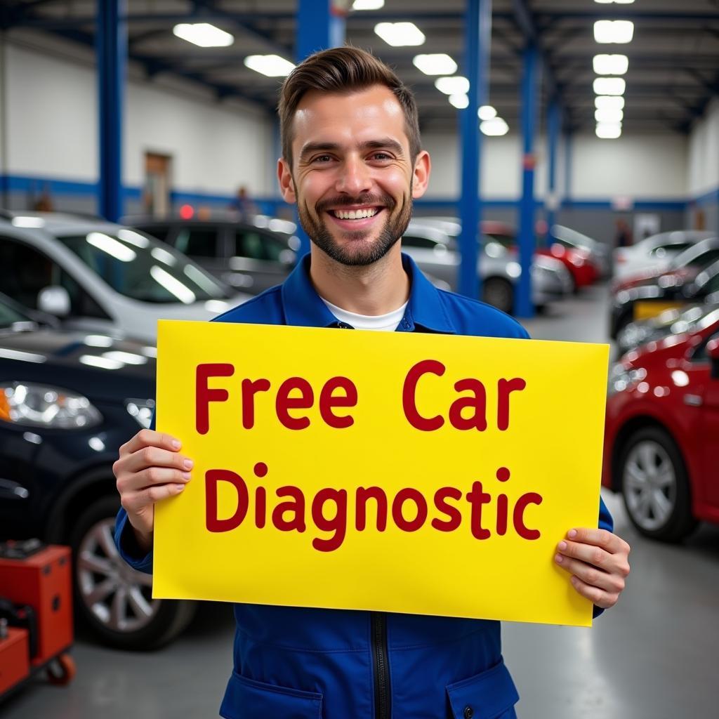
[[[75,523],[70,546],[76,613],[105,644],[156,649],[183,631],[196,604],[152,599],[152,575],[129,567],[114,544],[118,508],[115,498],[101,498]]]

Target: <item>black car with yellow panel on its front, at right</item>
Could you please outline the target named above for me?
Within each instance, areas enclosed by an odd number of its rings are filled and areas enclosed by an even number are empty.
[[[719,260],[695,278],[661,275],[618,292],[610,305],[609,334],[616,339],[633,321],[649,319],[667,309],[719,301]]]

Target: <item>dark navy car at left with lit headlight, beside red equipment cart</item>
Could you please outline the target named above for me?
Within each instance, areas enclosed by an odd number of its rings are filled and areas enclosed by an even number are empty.
[[[195,605],[152,599],[152,578],[117,553],[112,464],[150,423],[154,346],[55,329],[0,295],[0,539],[73,553],[75,612],[106,644],[152,649]]]

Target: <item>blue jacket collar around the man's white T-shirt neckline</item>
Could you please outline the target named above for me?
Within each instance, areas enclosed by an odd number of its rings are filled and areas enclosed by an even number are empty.
[[[456,334],[442,303],[439,290],[420,272],[408,255],[402,255],[402,265],[410,278],[410,295],[399,331],[430,331]],[[310,255],[297,263],[282,285],[282,304],[285,321],[297,327],[336,326],[337,319],[317,294],[310,280]]]

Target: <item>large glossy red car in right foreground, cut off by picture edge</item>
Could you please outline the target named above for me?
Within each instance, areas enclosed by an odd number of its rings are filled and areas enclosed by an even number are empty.
[[[602,484],[638,531],[679,541],[719,523],[719,311],[692,334],[623,357],[610,374]]]

